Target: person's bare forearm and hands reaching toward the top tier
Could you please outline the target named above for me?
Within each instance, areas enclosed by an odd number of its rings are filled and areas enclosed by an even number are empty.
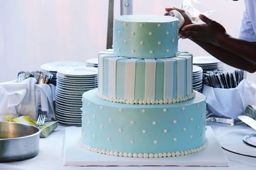
[[[189,18],[184,10],[166,8],[166,11],[171,10],[179,11],[185,20]],[[211,55],[230,66],[251,73],[256,71],[255,43],[230,37],[222,25],[210,20],[204,15],[200,15],[200,19],[206,24],[193,24],[189,18],[188,24],[184,24],[184,27],[179,32],[180,37],[191,39],[207,52],[211,53]]]

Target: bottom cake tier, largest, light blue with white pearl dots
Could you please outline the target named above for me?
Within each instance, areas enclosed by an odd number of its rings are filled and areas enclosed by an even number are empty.
[[[123,104],[83,94],[81,143],[120,157],[173,157],[199,152],[205,139],[206,98],[174,104]]]

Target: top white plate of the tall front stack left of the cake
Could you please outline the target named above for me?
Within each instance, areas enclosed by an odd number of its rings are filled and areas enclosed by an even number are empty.
[[[98,69],[94,67],[72,67],[70,69],[60,69],[57,74],[64,76],[95,76]]]

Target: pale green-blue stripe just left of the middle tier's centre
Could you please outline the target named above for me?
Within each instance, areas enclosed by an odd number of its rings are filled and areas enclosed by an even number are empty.
[[[145,60],[136,61],[135,99],[144,99],[145,97],[145,72]]]

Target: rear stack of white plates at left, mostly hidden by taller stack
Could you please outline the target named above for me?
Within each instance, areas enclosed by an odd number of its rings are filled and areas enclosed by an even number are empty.
[[[52,80],[50,83],[56,85],[56,74],[58,69],[68,68],[68,67],[79,67],[85,66],[83,62],[76,62],[76,61],[58,61],[58,62],[49,62],[43,64],[40,69],[41,71],[45,71],[52,74]]]

